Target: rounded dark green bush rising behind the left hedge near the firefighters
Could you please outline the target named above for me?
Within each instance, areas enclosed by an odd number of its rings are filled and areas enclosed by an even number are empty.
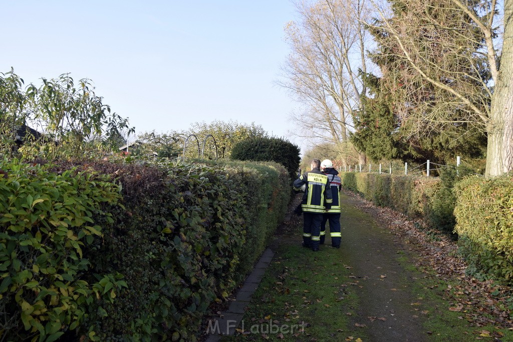
[[[276,162],[282,164],[291,180],[297,178],[301,161],[300,148],[282,138],[251,138],[237,143],[231,151],[231,158],[255,162]]]

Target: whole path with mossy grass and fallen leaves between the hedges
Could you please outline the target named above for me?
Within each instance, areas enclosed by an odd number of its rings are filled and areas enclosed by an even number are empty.
[[[341,199],[340,249],[330,246],[329,231],[320,252],[301,247],[303,217],[289,212],[270,242],[274,258],[244,308],[245,327],[222,341],[513,340],[509,313],[491,295],[497,288],[465,275],[448,237],[358,195]],[[252,330],[271,319],[306,329]]]

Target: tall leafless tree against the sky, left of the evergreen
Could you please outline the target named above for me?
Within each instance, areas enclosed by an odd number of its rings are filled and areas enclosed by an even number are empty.
[[[285,28],[291,54],[282,68],[280,86],[303,105],[291,116],[302,133],[317,142],[346,142],[351,118],[361,109],[366,89],[364,0],[320,0],[296,4],[299,23]],[[362,155],[364,157],[364,155]]]

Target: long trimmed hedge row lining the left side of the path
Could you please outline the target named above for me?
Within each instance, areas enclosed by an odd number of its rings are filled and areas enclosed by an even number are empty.
[[[4,160],[0,169],[8,199],[0,208],[0,318],[14,317],[0,336],[16,340],[195,340],[208,306],[229,295],[265,248],[290,193],[286,170],[274,163],[80,163],[66,171]],[[51,189],[41,185],[54,178]],[[37,201],[45,196],[48,204]],[[48,213],[34,214],[40,207]],[[52,310],[51,319],[41,316]]]

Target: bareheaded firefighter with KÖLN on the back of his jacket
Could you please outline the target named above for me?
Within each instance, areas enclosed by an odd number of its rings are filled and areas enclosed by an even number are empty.
[[[319,251],[321,241],[321,223],[323,213],[330,209],[332,191],[328,176],[321,172],[321,161],[313,159],[311,171],[303,173],[294,181],[294,190],[300,191],[305,185],[305,194],[301,207],[303,209],[303,246]]]

